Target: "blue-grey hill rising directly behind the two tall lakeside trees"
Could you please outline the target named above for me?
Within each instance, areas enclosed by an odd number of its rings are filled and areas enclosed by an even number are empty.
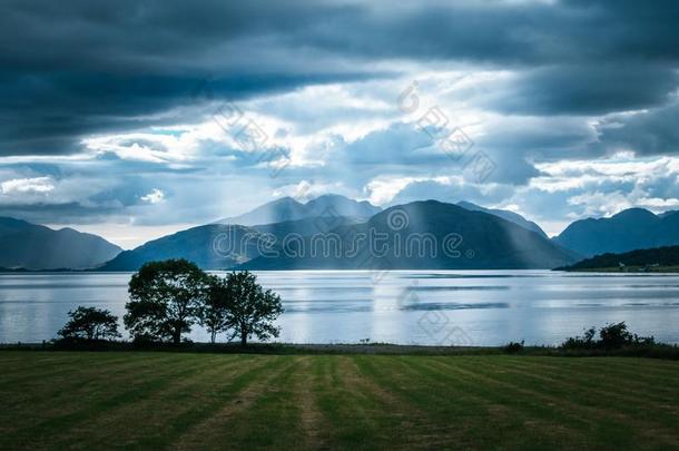
[[[167,258],[186,258],[204,269],[225,269],[258,256],[258,232],[244,226],[194,227],[125,251],[97,269],[137,271],[146,262]]]

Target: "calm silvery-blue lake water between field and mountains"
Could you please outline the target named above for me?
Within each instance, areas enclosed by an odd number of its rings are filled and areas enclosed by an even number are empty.
[[[549,271],[257,273],[284,300],[279,341],[297,343],[558,344],[590,325],[626,321],[679,343],[679,275]],[[0,275],[0,342],[56,336],[78,305],[122,316],[130,274]],[[121,327],[122,329],[122,327]],[[207,341],[195,327],[191,339]]]

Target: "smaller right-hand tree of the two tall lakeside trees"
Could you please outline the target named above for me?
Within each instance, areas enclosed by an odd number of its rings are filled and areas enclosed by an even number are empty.
[[[273,322],[283,313],[281,296],[270,290],[264,290],[257,283],[257,276],[244,271],[232,273],[227,277],[229,296],[228,322],[234,329],[233,336],[240,336],[240,344],[255,335],[259,340],[278,336],[278,327]]]

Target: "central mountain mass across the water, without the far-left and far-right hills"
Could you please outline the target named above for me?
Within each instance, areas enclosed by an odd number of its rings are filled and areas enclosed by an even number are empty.
[[[392,212],[405,215],[407,227],[402,231],[390,228],[386,220]],[[533,223],[519,215],[511,216],[514,222],[506,220],[500,216],[504,213],[472,210],[469,206],[463,208],[435,200],[382,212],[366,202],[358,203],[337,195],[322,196],[306,204],[283,198],[242,216],[194,227],[126,251],[98,269],[136,271],[145,262],[170,257],[194,261],[206,269],[365,268],[366,265],[381,268],[549,268],[578,259],[575,254],[551,243],[541,229],[535,232]],[[275,217],[277,222],[252,224],[267,217]],[[407,255],[405,249],[396,254],[392,248],[391,254],[374,257],[364,244],[355,249],[355,255],[324,256],[318,255],[321,251],[312,255],[319,246],[350,249],[358,236],[367,236],[371,231],[386,236],[390,244],[396,237],[432,237],[437,246],[436,253]],[[460,249],[456,249],[465,252],[463,257],[451,258],[442,252],[441,246],[450,234],[463,237]],[[291,243],[297,246],[296,249],[286,247],[285,241],[289,238],[294,238]],[[341,243],[336,244],[336,239]],[[365,262],[366,258],[371,262]]]

